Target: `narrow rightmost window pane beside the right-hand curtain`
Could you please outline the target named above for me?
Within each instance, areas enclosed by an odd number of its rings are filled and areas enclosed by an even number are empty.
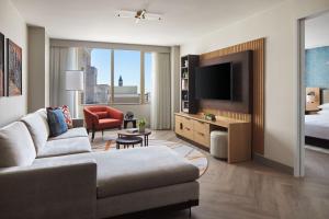
[[[145,103],[150,102],[151,95],[151,82],[152,82],[152,56],[151,53],[145,53],[144,59],[144,72],[145,72]]]

